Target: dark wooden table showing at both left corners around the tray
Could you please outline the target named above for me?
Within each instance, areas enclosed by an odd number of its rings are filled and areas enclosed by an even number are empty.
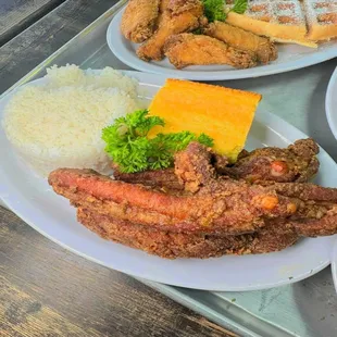
[[[0,0],[0,13],[8,8],[2,41],[43,16],[0,48],[0,92],[114,3],[61,2],[15,1],[11,7]],[[62,249],[0,207],[0,336],[236,335],[127,275]]]

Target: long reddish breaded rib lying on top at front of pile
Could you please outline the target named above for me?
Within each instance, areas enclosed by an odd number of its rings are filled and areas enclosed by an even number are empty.
[[[198,167],[195,171],[200,173]],[[315,228],[324,223],[321,235],[337,230],[337,222],[332,221],[336,220],[337,189],[312,184],[292,184],[294,189],[285,191],[277,183],[264,187],[217,178],[196,194],[177,194],[72,168],[52,172],[49,183],[76,207],[164,230],[238,235],[262,228],[269,219],[285,219],[291,228],[305,227],[309,220]],[[305,198],[298,190],[307,190]]]

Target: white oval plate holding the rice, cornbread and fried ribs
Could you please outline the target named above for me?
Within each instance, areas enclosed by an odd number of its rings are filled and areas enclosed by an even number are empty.
[[[127,72],[136,77],[150,99],[164,78],[158,75]],[[32,84],[41,85],[46,79]],[[0,113],[11,99],[0,101]],[[283,120],[258,112],[247,148],[285,147],[303,138],[301,132]],[[207,290],[253,290],[290,284],[317,273],[329,264],[332,237],[302,239],[284,251],[216,259],[164,260],[142,251],[101,239],[76,222],[75,209],[57,196],[47,180],[40,178],[16,158],[0,129],[0,197],[10,209],[32,227],[89,260],[108,267],[168,285]],[[337,187],[337,166],[322,150],[317,183]]]

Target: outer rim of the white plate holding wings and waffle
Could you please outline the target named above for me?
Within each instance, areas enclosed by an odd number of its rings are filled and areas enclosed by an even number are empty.
[[[300,68],[304,68],[314,64],[319,64],[325,61],[328,61],[335,57],[337,57],[337,42],[336,47],[330,48],[327,51],[317,51],[317,53],[300,58],[298,60],[288,61],[283,63],[284,65],[277,66],[271,64],[270,68],[267,66],[261,66],[255,68],[248,68],[248,70],[230,70],[230,71],[210,71],[210,72],[189,72],[189,71],[179,71],[179,70],[173,70],[173,68],[165,68],[165,67],[159,67],[153,63],[148,63],[145,61],[139,60],[134,54],[130,54],[125,48],[123,43],[115,45],[115,41],[118,41],[117,39],[113,39],[113,36],[115,36],[116,32],[118,33],[118,36],[121,36],[120,33],[120,22],[122,18],[123,11],[125,9],[125,5],[112,17],[108,29],[107,29],[107,43],[109,49],[112,51],[112,53],[120,59],[124,64],[133,67],[134,70],[138,70],[145,73],[152,73],[158,75],[164,75],[164,76],[173,76],[176,78],[186,78],[191,80],[229,80],[229,79],[242,79],[242,78],[255,78],[255,77],[262,77],[262,76],[270,76],[275,74],[282,74],[287,73]],[[121,37],[122,39],[123,37]],[[121,50],[126,50],[126,52],[121,52]],[[125,55],[128,55],[125,58]],[[133,61],[135,60],[135,61]],[[138,61],[138,62],[137,62]],[[251,70],[260,70],[254,71],[253,74],[251,74]]]

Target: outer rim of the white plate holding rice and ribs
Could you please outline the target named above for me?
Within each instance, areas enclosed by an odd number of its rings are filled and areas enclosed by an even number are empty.
[[[150,85],[154,85],[154,86],[161,86],[165,79],[164,76],[159,76],[159,75],[154,75],[154,74],[143,74],[143,73],[139,73],[139,72],[134,72],[134,71],[123,71],[125,74],[128,74],[130,76],[134,76],[136,77],[140,83],[148,83]],[[146,76],[150,76],[154,79],[155,84],[153,83],[149,83],[147,80],[141,80],[140,77],[142,77],[143,75]],[[38,83],[38,82],[41,82],[41,79],[43,79],[43,77],[41,78],[38,78],[36,80],[33,80],[33,82],[29,82],[27,84],[25,84],[24,86],[26,85],[29,85],[29,84],[34,84],[34,83]],[[161,83],[161,84],[159,84]],[[4,100],[5,98],[8,97],[11,97],[12,95],[14,95],[14,92],[22,88],[23,86],[16,88],[15,90],[11,91],[9,95],[5,95],[3,98],[0,99],[0,103],[2,100]],[[296,132],[298,134],[299,137],[308,137],[305,134],[303,134],[301,130],[299,130],[298,128],[296,128],[295,126],[292,126],[291,124],[289,124],[288,122],[282,120],[280,117],[272,114],[272,113],[269,113],[269,112],[259,112],[257,114],[258,116],[258,120],[260,118],[263,118],[263,124],[269,124],[270,122],[272,122],[272,124],[277,124],[277,125],[286,125],[288,129],[291,129],[292,132]],[[267,120],[267,122],[265,122],[265,120]],[[259,121],[260,122],[260,121]],[[291,138],[291,137],[290,137]],[[285,138],[284,139],[289,142],[289,138]],[[329,160],[332,161],[333,164],[336,165],[336,163],[334,162],[334,160],[329,157],[329,154],[324,150],[322,149],[322,154],[326,157],[326,160]],[[0,179],[1,178],[5,178],[5,173],[1,170],[0,167]],[[101,264],[101,265],[104,265],[109,269],[112,269],[112,270],[116,270],[116,271],[120,271],[122,273],[126,273],[126,274],[129,274],[132,276],[135,276],[135,277],[141,277],[141,278],[146,278],[146,279],[150,279],[150,280],[153,280],[153,282],[158,282],[158,283],[164,283],[162,279],[158,279],[158,277],[150,277],[149,276],[145,276],[142,275],[141,273],[134,273],[133,271],[130,271],[129,269],[124,269],[124,270],[121,270],[120,267],[115,267],[115,266],[112,266],[112,264],[110,263],[105,263],[103,261],[100,261],[89,254],[87,254],[86,252],[83,252],[82,250],[78,250],[76,248],[73,248],[72,246],[70,246],[66,242],[63,242],[61,240],[59,240],[58,238],[49,235],[48,233],[43,232],[38,225],[36,225],[34,223],[33,220],[30,220],[29,216],[27,216],[26,214],[23,214],[22,210],[17,207],[15,207],[15,204],[13,204],[12,201],[9,201],[7,199],[7,196],[5,196],[5,191],[3,192],[0,188],[0,199],[9,207],[10,210],[12,210],[17,216],[20,216],[24,222],[26,222],[29,226],[32,226],[34,229],[36,229],[38,233],[42,234],[45,237],[49,238],[50,240],[52,240],[53,242],[58,244],[59,246],[89,260],[89,261],[93,261],[98,264]],[[326,242],[329,244],[329,241],[332,240],[332,237],[326,237]],[[296,283],[296,282],[299,282],[301,279],[304,279],[309,276],[312,276],[314,275],[315,273],[322,271],[323,269],[325,269],[329,263],[330,263],[330,258],[329,257],[326,257],[326,260],[325,261],[321,261],[322,263],[317,264],[315,269],[311,270],[310,272],[307,271],[305,273],[302,273],[298,276],[295,276],[292,279],[288,279],[286,277],[284,277],[282,280],[279,282],[273,282],[273,283],[270,283],[270,284],[254,284],[254,285],[250,285],[250,286],[242,286],[242,287],[228,287],[226,286],[225,288],[219,288],[219,287],[200,287],[198,286],[198,284],[189,284],[188,286],[185,284],[185,285],[182,285],[182,283],[173,283],[173,282],[170,282],[168,284],[170,285],[173,285],[173,286],[179,286],[179,287],[188,287],[188,288],[191,288],[191,289],[202,289],[202,290],[210,290],[210,291],[250,291],[250,290],[261,290],[261,289],[269,289],[269,288],[273,288],[273,287],[277,287],[277,286],[283,286],[283,285],[288,285],[288,284],[292,284],[292,283]]]

